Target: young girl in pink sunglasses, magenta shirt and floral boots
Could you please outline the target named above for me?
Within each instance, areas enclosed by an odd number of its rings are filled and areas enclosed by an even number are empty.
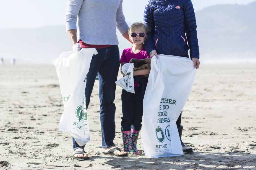
[[[129,37],[133,46],[124,49],[120,58],[121,73],[122,66],[129,63],[132,58],[138,60],[149,58],[146,49],[144,48],[144,41],[146,39],[147,28],[143,23],[134,23],[129,29]],[[146,90],[147,77],[150,69],[136,70],[134,76],[134,90],[135,94],[122,91],[122,111],[123,117],[121,122],[122,138],[124,143],[124,150],[140,155],[141,150],[137,150],[138,135],[141,130],[141,122],[143,115],[143,97]],[[122,73],[123,74],[123,73]],[[124,74],[123,74],[124,75]],[[125,76],[125,75],[124,75]]]

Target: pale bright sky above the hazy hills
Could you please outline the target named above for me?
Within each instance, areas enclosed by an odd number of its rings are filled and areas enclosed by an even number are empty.
[[[123,0],[126,21],[143,21],[148,0]],[[192,0],[195,11],[217,4],[248,4],[255,0]],[[64,25],[67,0],[0,0],[0,29]]]

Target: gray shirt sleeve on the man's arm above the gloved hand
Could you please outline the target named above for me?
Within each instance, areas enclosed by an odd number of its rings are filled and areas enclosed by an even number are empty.
[[[68,0],[67,10],[66,10],[66,31],[70,29],[77,29],[77,15],[80,11],[81,6],[83,5],[83,0]]]

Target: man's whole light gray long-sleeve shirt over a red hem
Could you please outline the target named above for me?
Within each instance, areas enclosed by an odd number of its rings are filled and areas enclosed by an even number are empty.
[[[116,29],[128,31],[122,9],[123,0],[68,0],[66,31],[77,29],[83,42],[92,45],[118,45]]]

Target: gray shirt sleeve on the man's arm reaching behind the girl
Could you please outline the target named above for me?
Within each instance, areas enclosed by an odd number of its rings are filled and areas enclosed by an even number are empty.
[[[123,0],[121,0],[120,5],[116,11],[116,28],[121,34],[124,34],[129,30],[129,26],[125,22],[125,16],[123,13]]]

